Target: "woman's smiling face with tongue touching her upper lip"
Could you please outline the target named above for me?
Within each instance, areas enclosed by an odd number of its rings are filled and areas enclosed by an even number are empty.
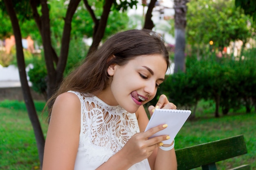
[[[159,84],[164,81],[167,64],[160,54],[141,55],[129,60],[124,66],[112,64],[108,74],[109,86],[99,95],[109,105],[120,105],[130,113],[152,100]]]

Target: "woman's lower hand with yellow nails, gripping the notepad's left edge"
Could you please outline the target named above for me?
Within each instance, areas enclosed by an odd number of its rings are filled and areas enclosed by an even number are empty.
[[[156,132],[164,130],[167,126],[159,125],[154,128],[147,130],[146,132],[139,132],[133,135],[119,151],[127,159],[128,163],[132,166],[133,164],[143,161],[148,158],[155,148],[158,148],[166,140],[168,135],[157,136],[148,139]]]

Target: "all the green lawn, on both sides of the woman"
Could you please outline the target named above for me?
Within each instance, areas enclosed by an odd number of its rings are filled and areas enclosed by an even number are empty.
[[[41,117],[44,104],[35,102],[46,136],[47,123]],[[256,114],[246,114],[242,108],[214,118],[213,112],[213,103],[200,102],[197,118],[186,121],[175,138],[175,149],[243,134],[248,154],[221,161],[218,168],[224,170],[249,163],[251,169],[256,170]],[[39,167],[36,140],[24,102],[0,101],[0,169],[35,170]]]

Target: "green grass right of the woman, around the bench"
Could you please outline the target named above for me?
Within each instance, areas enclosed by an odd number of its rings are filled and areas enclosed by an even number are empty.
[[[243,164],[250,164],[256,170],[256,113],[245,113],[245,108],[231,110],[231,113],[214,117],[213,102],[201,101],[198,104],[196,118],[186,121],[175,137],[175,149],[203,144],[236,135],[244,135],[248,153],[235,158],[220,161],[220,170],[231,169]]]

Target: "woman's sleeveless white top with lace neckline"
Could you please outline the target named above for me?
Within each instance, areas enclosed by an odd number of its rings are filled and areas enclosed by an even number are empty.
[[[74,170],[95,170],[139,132],[137,118],[134,113],[120,106],[109,106],[96,96],[69,92],[75,93],[81,101],[81,129]],[[148,159],[129,170],[150,170]]]

